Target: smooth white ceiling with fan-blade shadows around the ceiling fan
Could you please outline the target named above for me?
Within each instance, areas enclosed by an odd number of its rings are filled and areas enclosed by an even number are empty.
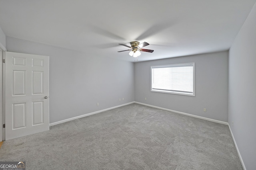
[[[256,0],[0,0],[6,36],[134,62],[228,50]]]

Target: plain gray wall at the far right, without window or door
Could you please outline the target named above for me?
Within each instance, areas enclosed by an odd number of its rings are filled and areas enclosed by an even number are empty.
[[[256,4],[230,48],[228,87],[228,123],[246,169],[255,170]]]

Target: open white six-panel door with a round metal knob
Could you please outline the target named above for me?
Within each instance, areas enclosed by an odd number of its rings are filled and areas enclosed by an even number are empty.
[[[49,130],[49,57],[5,53],[6,140]]]

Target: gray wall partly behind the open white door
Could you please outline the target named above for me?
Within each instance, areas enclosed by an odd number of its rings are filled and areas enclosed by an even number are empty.
[[[6,48],[50,56],[50,123],[134,101],[134,63],[8,36]]]

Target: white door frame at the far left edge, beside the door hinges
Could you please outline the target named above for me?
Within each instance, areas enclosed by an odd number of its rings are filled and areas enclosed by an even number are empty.
[[[5,140],[5,129],[3,128],[3,124],[5,123],[5,66],[3,63],[3,59],[5,59],[5,51],[6,48],[2,43],[0,42],[0,59],[1,59],[1,64],[0,64],[0,142]]]

